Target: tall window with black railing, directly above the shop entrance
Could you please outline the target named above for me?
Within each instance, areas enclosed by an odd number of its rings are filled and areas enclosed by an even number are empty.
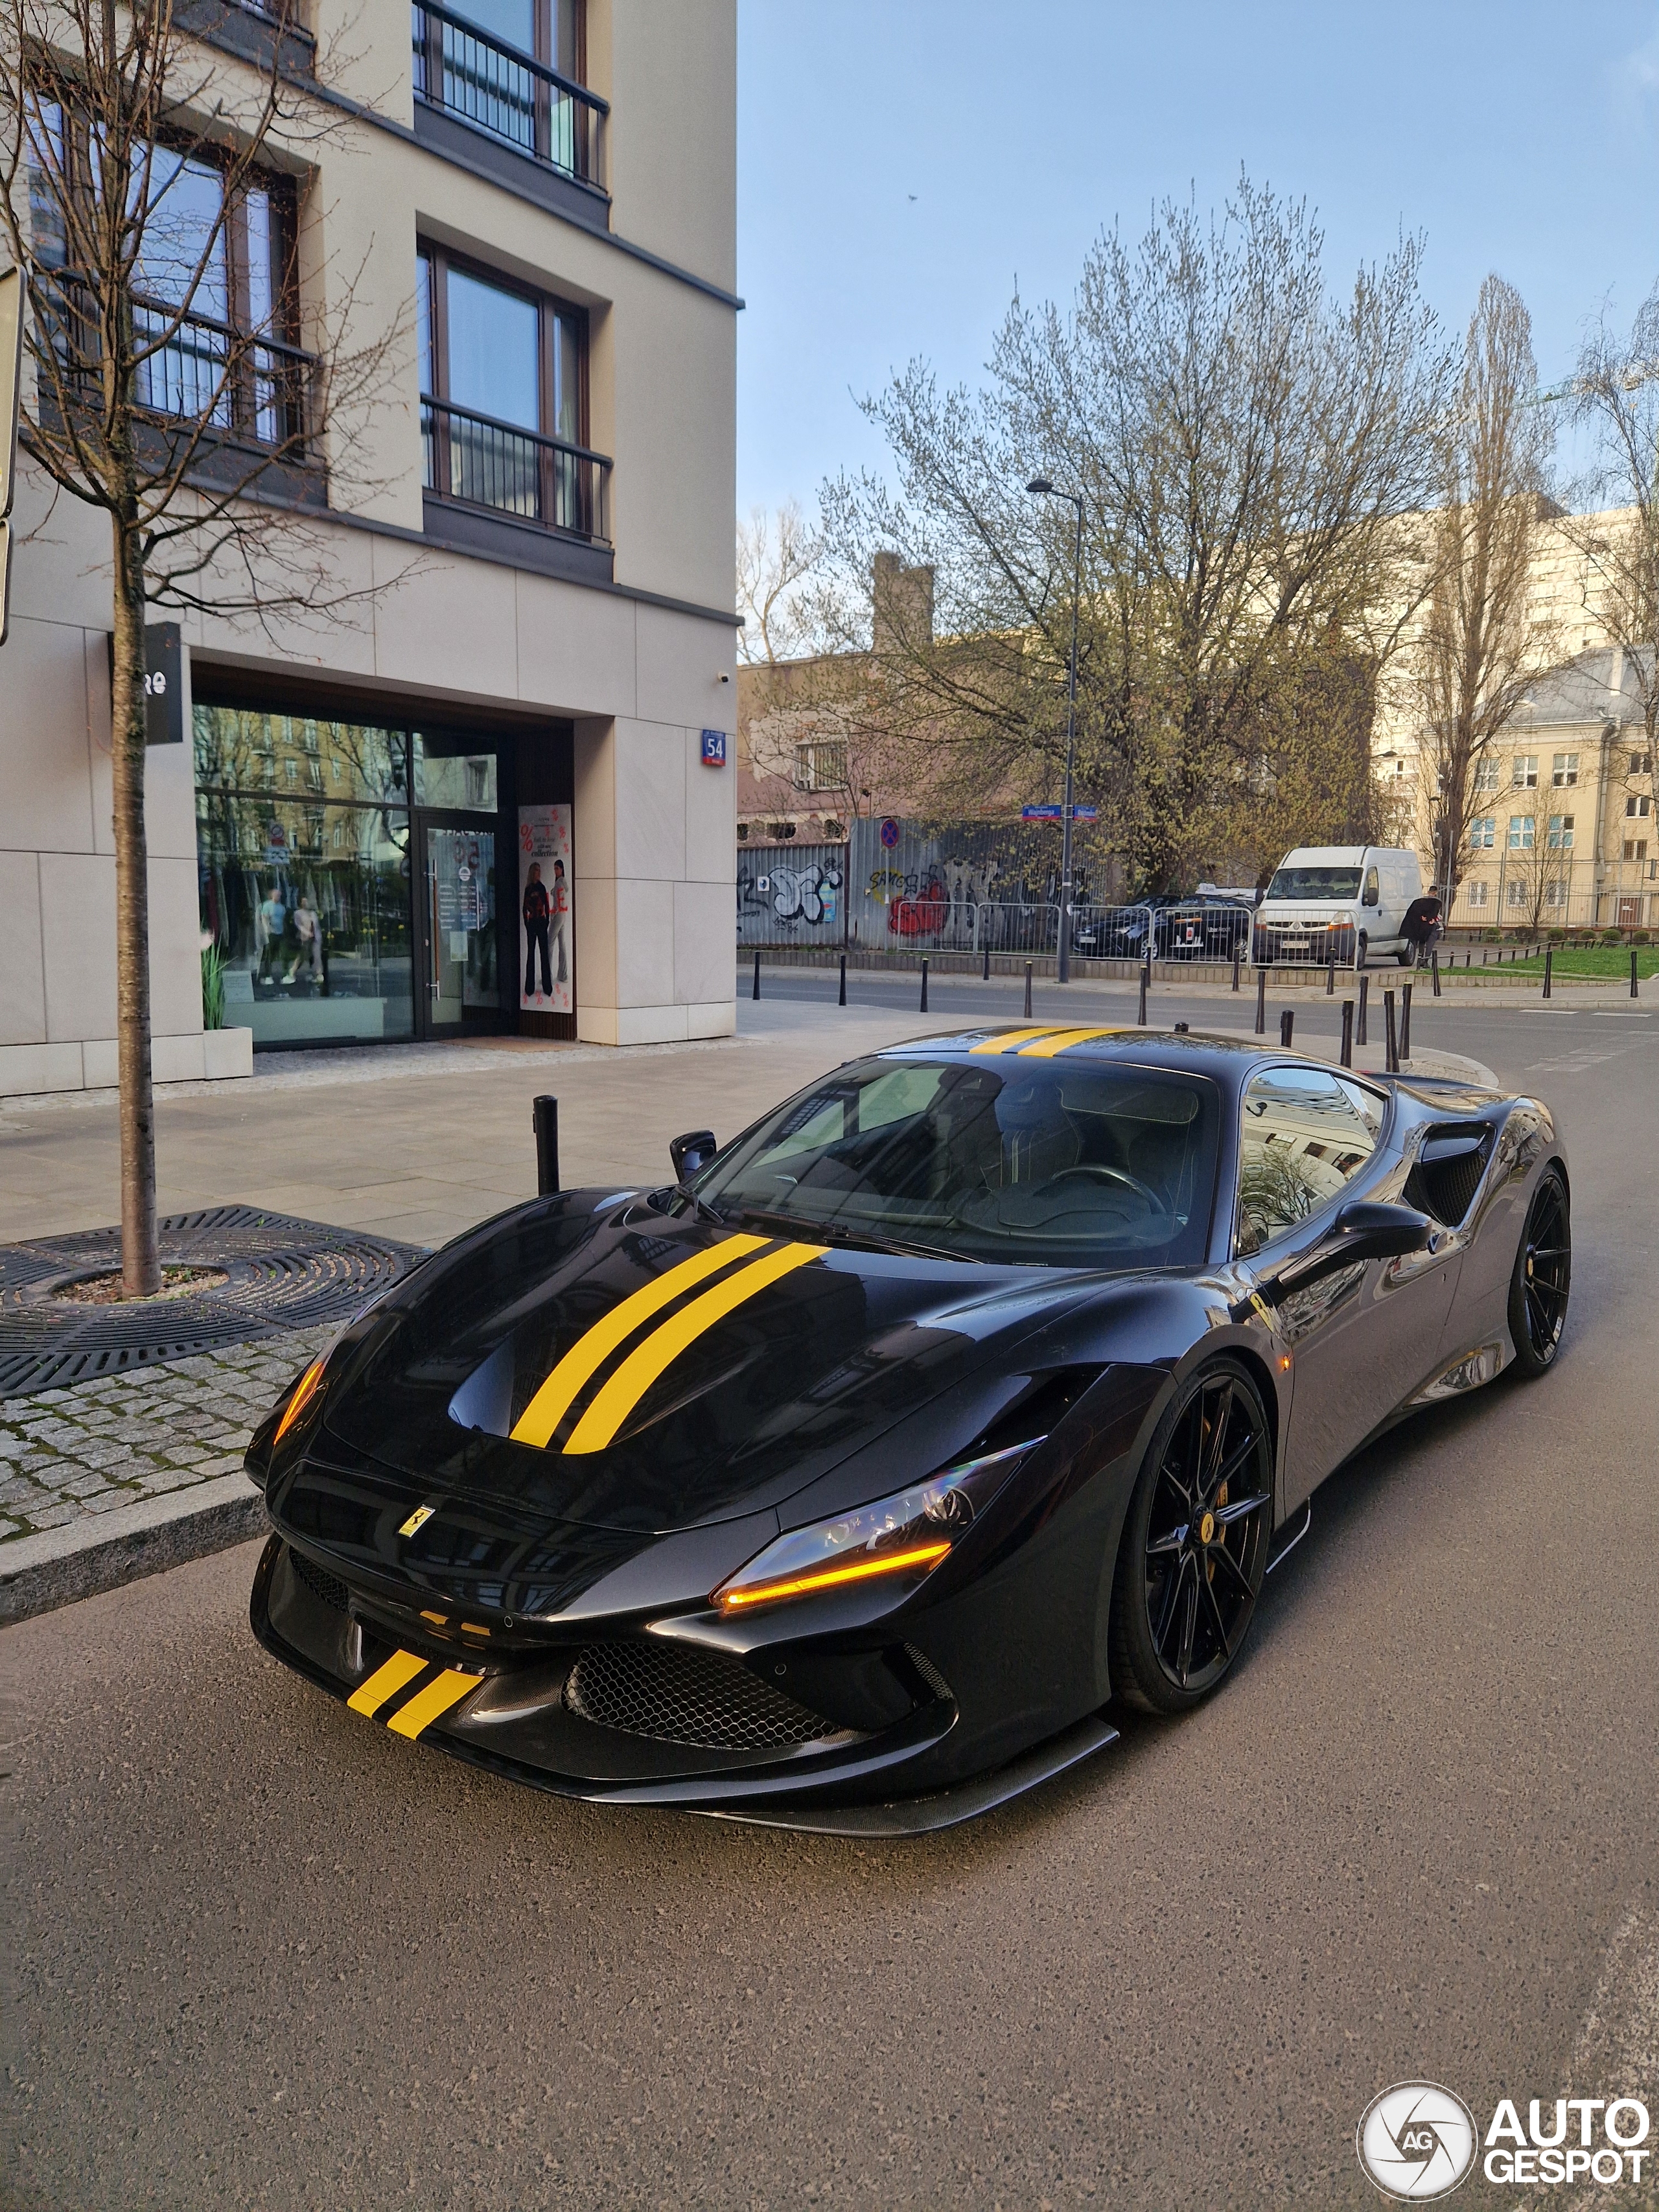
[[[438,248],[420,250],[416,305],[427,491],[602,540],[582,310]]]

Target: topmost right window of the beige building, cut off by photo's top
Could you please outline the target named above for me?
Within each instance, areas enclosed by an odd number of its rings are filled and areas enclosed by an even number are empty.
[[[414,0],[418,100],[533,161],[602,186],[608,111],[584,80],[584,0],[456,0],[442,13]]]

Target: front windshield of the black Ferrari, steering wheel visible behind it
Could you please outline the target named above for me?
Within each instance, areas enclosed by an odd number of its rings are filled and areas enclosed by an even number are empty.
[[[1060,1060],[860,1060],[695,1181],[699,1208],[962,1261],[1197,1265],[1217,1172],[1201,1075]]]

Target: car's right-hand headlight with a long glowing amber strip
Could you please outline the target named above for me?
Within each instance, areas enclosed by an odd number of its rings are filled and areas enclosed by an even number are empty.
[[[920,1582],[1040,1442],[1042,1438],[1033,1436],[982,1460],[962,1460],[960,1467],[947,1467],[918,1482],[914,1491],[880,1498],[874,1506],[841,1513],[836,1520],[818,1522],[816,1528],[790,1528],[723,1582],[712,1604],[721,1613],[741,1613],[748,1606],[774,1606],[785,1597],[807,1597],[814,1590],[872,1582],[878,1575],[909,1575]]]

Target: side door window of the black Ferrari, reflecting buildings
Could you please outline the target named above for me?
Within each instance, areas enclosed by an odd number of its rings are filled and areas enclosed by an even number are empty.
[[[1263,1068],[1243,1097],[1239,1252],[1261,1252],[1340,1192],[1376,1150],[1380,1108],[1323,1068]]]

